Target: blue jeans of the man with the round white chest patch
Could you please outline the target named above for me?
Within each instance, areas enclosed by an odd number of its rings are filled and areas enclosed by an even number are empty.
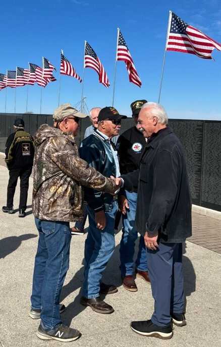
[[[138,238],[135,226],[135,215],[137,208],[137,193],[125,191],[129,203],[129,209],[123,216],[122,239],[120,244],[121,274],[133,275],[134,273],[134,246]],[[140,236],[139,250],[136,260],[136,268],[140,271],[147,271],[146,247],[143,236]]]

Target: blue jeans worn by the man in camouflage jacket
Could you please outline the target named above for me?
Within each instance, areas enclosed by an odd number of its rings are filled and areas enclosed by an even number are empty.
[[[71,230],[69,222],[35,218],[39,232],[35,257],[31,307],[41,309],[46,330],[61,323],[59,300],[69,268]]]

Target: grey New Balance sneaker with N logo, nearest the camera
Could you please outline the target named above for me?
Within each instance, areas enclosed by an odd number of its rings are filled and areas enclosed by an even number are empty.
[[[71,342],[80,337],[81,333],[80,331],[69,328],[68,326],[61,323],[57,325],[54,329],[47,331],[44,330],[44,328],[41,325],[39,325],[36,335],[42,340],[58,340],[61,342]]]

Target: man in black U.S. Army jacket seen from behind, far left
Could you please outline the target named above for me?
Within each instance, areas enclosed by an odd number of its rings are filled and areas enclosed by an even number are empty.
[[[28,197],[29,177],[32,171],[34,158],[34,141],[30,134],[24,131],[25,123],[22,119],[16,119],[15,132],[9,135],[6,141],[6,163],[9,169],[9,184],[7,190],[7,206],[2,210],[6,213],[14,213],[13,199],[18,178],[20,178],[19,217],[25,217]]]

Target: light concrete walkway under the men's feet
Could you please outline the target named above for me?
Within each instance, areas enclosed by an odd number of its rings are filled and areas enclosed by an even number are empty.
[[[0,159],[1,160],[1,159]],[[0,166],[0,206],[6,203],[8,170]],[[30,192],[32,179],[30,179]],[[18,206],[19,189],[16,190],[15,207]],[[28,316],[37,232],[28,197],[28,213],[18,218],[0,210],[0,347],[49,347],[64,346],[57,341],[42,341],[35,335],[39,322]],[[149,319],[153,311],[151,287],[137,279],[138,292],[126,291],[121,285],[119,272],[119,243],[121,232],[116,235],[116,250],[104,273],[104,281],[118,286],[118,293],[106,297],[115,308],[111,315],[101,315],[80,305],[80,287],[83,281],[84,236],[73,236],[70,269],[62,292],[62,302],[67,306],[63,319],[78,328],[82,337],[73,344],[79,347],[221,347],[221,255],[219,250],[197,245],[203,238],[202,230],[220,233],[220,221],[194,214],[194,235],[184,248],[185,294],[187,299],[186,327],[175,327],[171,340],[147,338],[130,329],[132,320]],[[208,220],[208,223],[207,223]],[[207,223],[207,225],[205,225]],[[218,231],[219,230],[219,231]],[[197,240],[197,236],[200,236]],[[206,240],[210,240],[210,237]],[[193,243],[195,242],[195,243]],[[215,251],[215,252],[214,252]],[[72,345],[72,343],[70,343]]]

